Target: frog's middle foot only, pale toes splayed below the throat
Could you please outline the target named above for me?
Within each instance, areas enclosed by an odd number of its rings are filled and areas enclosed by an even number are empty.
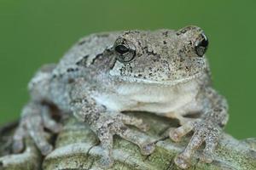
[[[102,166],[111,167],[113,164],[113,135],[117,134],[121,138],[137,144],[143,155],[149,155],[154,151],[154,141],[139,131],[130,129],[126,125],[138,127],[140,130],[146,131],[148,126],[141,119],[132,116],[119,114],[116,116],[102,116],[92,125],[92,129],[96,130],[96,134],[101,141],[103,148]]]

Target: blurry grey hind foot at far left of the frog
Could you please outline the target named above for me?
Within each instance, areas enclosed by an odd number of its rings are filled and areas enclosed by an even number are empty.
[[[52,133],[58,133],[61,130],[61,125],[51,118],[49,106],[38,103],[26,105],[22,111],[20,125],[17,127],[13,138],[14,152],[19,153],[24,150],[24,139],[29,136],[41,153],[44,156],[48,155],[53,150],[53,146],[47,141],[45,128]]]

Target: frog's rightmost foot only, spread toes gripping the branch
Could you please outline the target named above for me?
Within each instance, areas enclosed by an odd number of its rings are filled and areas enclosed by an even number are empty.
[[[174,160],[177,166],[183,169],[190,166],[191,157],[203,142],[206,143],[206,147],[203,150],[203,154],[200,156],[200,160],[211,163],[213,152],[218,144],[219,134],[221,133],[221,129],[217,123],[205,120],[190,120],[183,124],[183,126],[173,130],[170,133],[170,138],[177,142],[192,130],[195,133],[190,139],[189,144]]]

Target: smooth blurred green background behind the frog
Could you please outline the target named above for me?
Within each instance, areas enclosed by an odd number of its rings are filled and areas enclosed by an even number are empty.
[[[256,1],[0,0],[0,124],[15,120],[26,84],[79,37],[97,31],[201,26],[215,88],[230,103],[227,132],[256,136]]]

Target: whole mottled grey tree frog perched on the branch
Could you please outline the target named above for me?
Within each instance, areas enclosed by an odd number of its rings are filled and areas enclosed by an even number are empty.
[[[204,54],[207,37],[201,28],[179,31],[125,31],[93,34],[82,38],[57,65],[45,65],[29,83],[31,101],[22,111],[14,136],[14,150],[24,148],[30,135],[43,155],[53,147],[44,127],[54,133],[61,126],[51,118],[56,106],[73,113],[96,133],[105,153],[103,167],[113,164],[113,135],[137,144],[144,155],[154,151],[154,141],[141,139],[140,119],[122,111],[148,111],[177,118],[181,124],[170,132],[179,141],[190,131],[188,146],[175,158],[178,167],[189,167],[195,150],[206,143],[201,161],[211,162],[221,127],[228,120],[227,104],[212,87]]]

